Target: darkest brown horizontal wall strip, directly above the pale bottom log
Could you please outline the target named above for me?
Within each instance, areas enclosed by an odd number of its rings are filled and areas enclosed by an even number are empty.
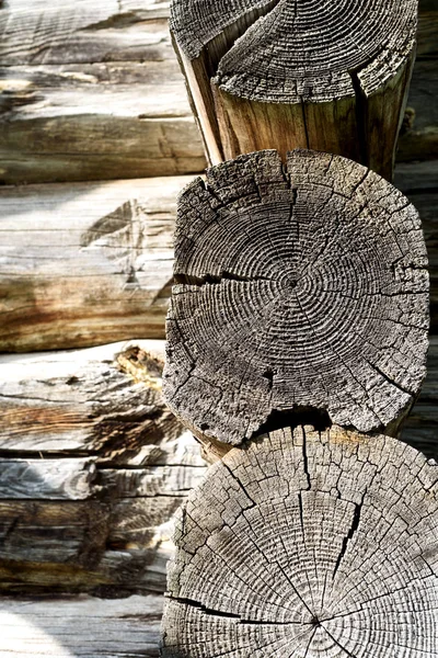
[[[163,592],[182,501],[0,501],[0,591]]]

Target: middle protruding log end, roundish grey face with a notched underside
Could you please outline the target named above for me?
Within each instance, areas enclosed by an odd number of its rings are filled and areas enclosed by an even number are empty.
[[[415,208],[350,160],[297,150],[285,173],[261,151],[210,169],[180,197],[168,404],[207,442],[291,412],[396,433],[426,372],[426,266]]]

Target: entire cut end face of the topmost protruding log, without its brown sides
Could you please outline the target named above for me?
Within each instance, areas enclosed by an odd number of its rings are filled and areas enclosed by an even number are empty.
[[[417,0],[173,0],[171,29],[189,59],[208,52],[231,93],[330,101],[354,94],[354,76],[372,93],[394,75],[414,47],[417,12]]]

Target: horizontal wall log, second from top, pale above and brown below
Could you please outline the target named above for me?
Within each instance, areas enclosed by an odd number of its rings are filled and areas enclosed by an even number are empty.
[[[3,184],[205,168],[175,63],[11,67],[0,75]]]

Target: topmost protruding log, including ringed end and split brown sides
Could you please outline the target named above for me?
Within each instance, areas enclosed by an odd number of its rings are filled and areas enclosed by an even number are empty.
[[[417,0],[173,0],[171,29],[211,163],[302,147],[391,180],[417,9]]]

